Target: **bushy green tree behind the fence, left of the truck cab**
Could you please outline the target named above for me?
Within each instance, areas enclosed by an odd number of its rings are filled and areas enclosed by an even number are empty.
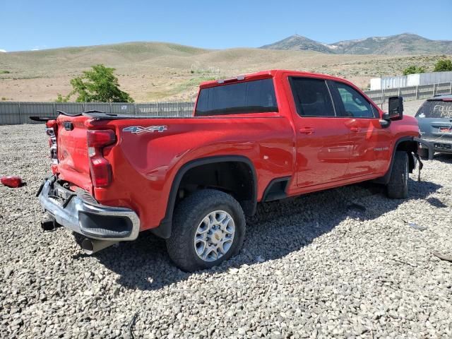
[[[59,94],[57,101],[66,102],[72,95],[77,95],[76,102],[133,102],[128,93],[119,89],[115,69],[102,64],[91,68],[91,71],[83,71],[82,76],[73,78],[71,93],[66,97]]]

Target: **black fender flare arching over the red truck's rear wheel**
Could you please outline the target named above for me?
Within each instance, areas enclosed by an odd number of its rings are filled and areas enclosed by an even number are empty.
[[[167,210],[165,212],[165,217],[160,221],[160,225],[151,229],[150,231],[153,234],[157,235],[157,237],[161,237],[163,239],[168,239],[171,237],[172,230],[172,215],[174,213],[174,206],[176,204],[177,191],[179,189],[179,185],[182,182],[182,178],[184,174],[194,167],[198,167],[201,165],[213,164],[216,162],[244,162],[249,169],[251,170],[251,176],[253,177],[253,197],[252,197],[252,206],[251,206],[251,215],[256,213],[256,205],[257,205],[257,174],[256,169],[254,168],[253,162],[249,160],[248,157],[244,155],[216,155],[212,157],[202,157],[199,159],[191,160],[186,162],[182,167],[179,168],[174,179],[171,184],[171,189],[169,191]]]

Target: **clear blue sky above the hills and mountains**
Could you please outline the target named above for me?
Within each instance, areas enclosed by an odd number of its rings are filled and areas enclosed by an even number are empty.
[[[295,33],[331,43],[401,32],[452,40],[452,1],[0,1],[6,51],[129,41],[222,49]]]

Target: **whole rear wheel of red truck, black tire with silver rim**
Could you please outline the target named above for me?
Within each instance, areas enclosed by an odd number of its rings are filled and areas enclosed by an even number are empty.
[[[218,266],[242,248],[245,216],[229,194],[196,191],[174,211],[169,258],[187,272]]]

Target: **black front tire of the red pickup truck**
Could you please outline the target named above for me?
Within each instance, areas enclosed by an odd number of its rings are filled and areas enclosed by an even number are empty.
[[[408,198],[408,172],[408,153],[403,150],[396,151],[396,155],[394,155],[393,168],[391,170],[391,178],[386,185],[389,198]]]

